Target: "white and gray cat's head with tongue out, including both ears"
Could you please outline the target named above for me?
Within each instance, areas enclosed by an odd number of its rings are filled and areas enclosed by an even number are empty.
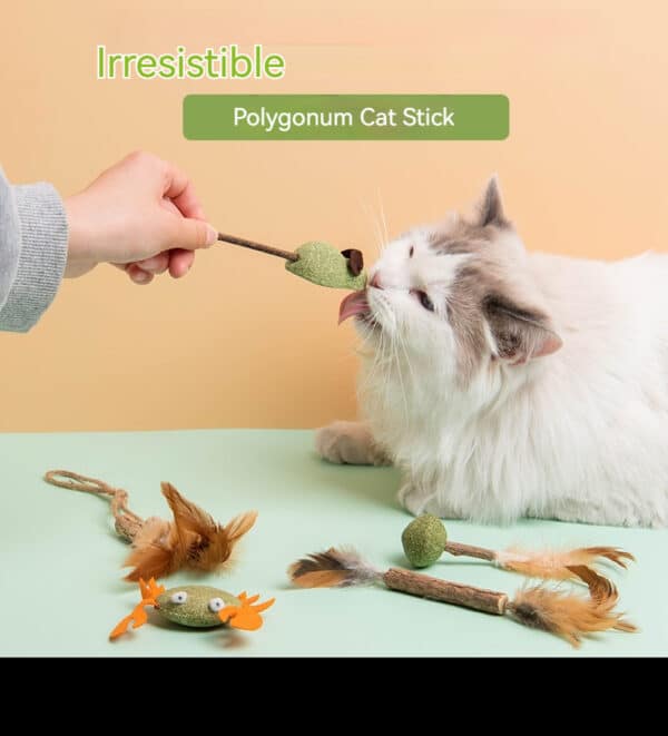
[[[475,217],[406,233],[369,276],[365,292],[344,300],[341,318],[356,316],[372,350],[433,365],[460,384],[490,364],[520,366],[561,346],[495,179]]]

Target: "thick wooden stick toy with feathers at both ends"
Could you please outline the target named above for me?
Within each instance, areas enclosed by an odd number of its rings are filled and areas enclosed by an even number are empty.
[[[589,588],[589,596],[553,590],[544,585],[519,590],[514,598],[504,592],[464,586],[421,572],[391,568],[383,571],[365,562],[353,549],[332,547],[325,552],[297,560],[288,569],[292,581],[301,588],[343,588],[379,583],[391,590],[463,606],[494,616],[510,616],[520,624],[563,637],[573,647],[582,636],[636,627],[616,612],[617,589],[586,566],[574,566],[571,573]]]

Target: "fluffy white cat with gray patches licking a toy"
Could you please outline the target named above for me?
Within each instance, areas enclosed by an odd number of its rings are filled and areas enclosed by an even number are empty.
[[[351,316],[364,422],[323,458],[395,463],[414,514],[668,523],[668,256],[528,253],[492,179],[390,243]]]

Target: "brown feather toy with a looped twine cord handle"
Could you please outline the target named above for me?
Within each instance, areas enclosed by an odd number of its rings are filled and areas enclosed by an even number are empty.
[[[165,577],[184,568],[218,570],[229,561],[236,543],[257,518],[256,511],[247,511],[223,527],[185,499],[171,483],[161,483],[163,495],[174,518],[171,521],[158,517],[144,520],[128,508],[127,491],[97,478],[87,478],[69,470],[50,470],[45,480],[51,485],[110,499],[116,532],[132,546],[122,567],[135,569],[125,579],[135,582]]]

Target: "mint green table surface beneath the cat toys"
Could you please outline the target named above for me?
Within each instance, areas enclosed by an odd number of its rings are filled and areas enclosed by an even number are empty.
[[[668,532],[523,521],[514,527],[449,522],[450,538],[491,548],[615,544],[638,562],[611,572],[621,608],[640,627],[608,632],[579,650],[509,618],[413,598],[384,588],[296,590],[285,570],[299,556],[355,544],[379,567],[404,563],[389,468],[334,467],[318,460],[306,431],[184,431],[0,435],[1,655],[77,656],[389,656],[667,655]],[[130,493],[143,516],[166,516],[159,482],[169,480],[220,521],[257,509],[234,569],[203,582],[248,590],[276,603],[259,631],[184,629],[150,622],[109,642],[138,601],[121,580],[127,553],[102,499],[48,485],[46,470],[101,478]],[[512,593],[523,579],[474,560],[444,558],[432,575]],[[187,573],[168,587],[193,582]]]

